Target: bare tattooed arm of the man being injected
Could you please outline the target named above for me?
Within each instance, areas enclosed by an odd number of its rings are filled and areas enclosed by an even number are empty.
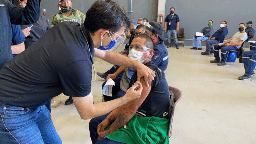
[[[140,105],[142,105],[143,101],[148,96],[150,90],[151,90],[151,82],[150,87],[147,87],[145,85],[145,81],[142,78],[141,81],[143,85],[142,95],[140,98],[136,98],[133,101],[130,101],[126,103],[123,106],[120,106],[116,108],[114,111],[112,111],[107,118],[103,121],[103,123],[100,123],[97,129],[97,133],[99,134],[98,140],[102,137],[105,137],[106,135],[116,131],[117,129],[123,127],[125,124],[127,124],[130,119],[134,116],[134,114],[137,112]],[[108,130],[105,130],[109,126],[109,124],[115,119],[113,124]]]

